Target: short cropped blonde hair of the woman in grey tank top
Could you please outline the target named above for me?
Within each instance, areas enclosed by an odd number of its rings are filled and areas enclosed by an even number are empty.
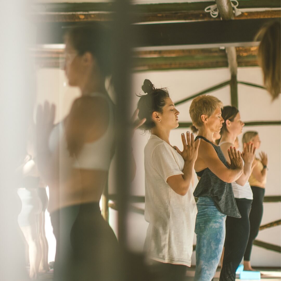
[[[196,128],[203,126],[201,115],[204,114],[207,117],[210,117],[218,106],[222,107],[223,103],[214,96],[202,95],[193,99],[189,108],[192,124]]]

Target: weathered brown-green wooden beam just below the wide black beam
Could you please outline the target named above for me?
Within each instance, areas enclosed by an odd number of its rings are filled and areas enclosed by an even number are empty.
[[[238,66],[257,66],[257,47],[237,47]],[[64,50],[33,49],[40,67],[60,67]],[[133,51],[133,71],[165,69],[207,69],[227,67],[225,51],[220,48]],[[242,82],[243,83],[243,82]]]

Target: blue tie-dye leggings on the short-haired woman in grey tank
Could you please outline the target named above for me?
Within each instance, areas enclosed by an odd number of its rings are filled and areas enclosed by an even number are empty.
[[[194,281],[211,281],[223,251],[226,215],[219,212],[210,197],[198,198],[197,209]]]

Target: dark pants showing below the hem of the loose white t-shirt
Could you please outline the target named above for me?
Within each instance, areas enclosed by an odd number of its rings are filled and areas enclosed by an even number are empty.
[[[186,270],[187,266],[183,264],[156,262],[153,265],[155,280],[157,281],[183,281]]]

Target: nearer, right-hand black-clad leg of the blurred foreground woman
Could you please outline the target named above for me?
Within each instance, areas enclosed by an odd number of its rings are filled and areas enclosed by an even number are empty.
[[[71,229],[77,280],[115,280],[119,249],[113,230],[101,216],[98,203],[82,204]]]

